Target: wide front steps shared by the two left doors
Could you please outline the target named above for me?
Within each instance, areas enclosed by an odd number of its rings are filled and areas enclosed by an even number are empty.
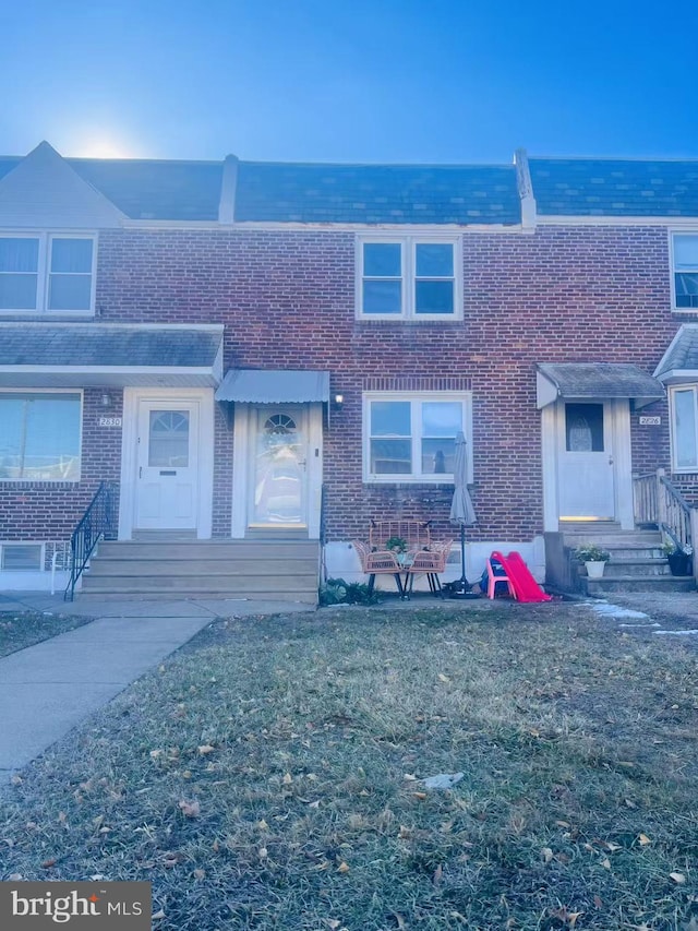
[[[81,597],[246,598],[317,604],[317,540],[100,542]]]

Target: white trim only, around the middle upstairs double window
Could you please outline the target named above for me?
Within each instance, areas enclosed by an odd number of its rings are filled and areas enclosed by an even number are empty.
[[[402,307],[400,313],[364,313],[363,312],[363,247],[365,243],[399,244],[401,256]],[[416,313],[414,294],[417,289],[417,246],[429,243],[434,246],[452,246],[454,250],[454,312],[453,313]],[[461,236],[430,236],[396,234],[390,236],[358,236],[356,261],[356,317],[357,320],[410,320],[418,323],[448,323],[462,320],[462,237]],[[446,279],[443,279],[446,281]]]

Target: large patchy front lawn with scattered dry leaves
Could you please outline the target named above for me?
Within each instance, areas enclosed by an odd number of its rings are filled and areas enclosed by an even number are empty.
[[[218,622],[15,779],[0,879],[149,880],[163,931],[693,931],[696,654],[658,641],[568,604]]]

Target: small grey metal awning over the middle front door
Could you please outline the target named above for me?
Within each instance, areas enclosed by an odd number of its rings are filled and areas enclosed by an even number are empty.
[[[239,404],[329,402],[329,372],[296,369],[230,369],[216,401]]]

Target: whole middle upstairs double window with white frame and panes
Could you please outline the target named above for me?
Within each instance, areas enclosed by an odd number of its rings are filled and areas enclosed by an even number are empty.
[[[460,239],[359,237],[357,314],[362,320],[459,320]]]

